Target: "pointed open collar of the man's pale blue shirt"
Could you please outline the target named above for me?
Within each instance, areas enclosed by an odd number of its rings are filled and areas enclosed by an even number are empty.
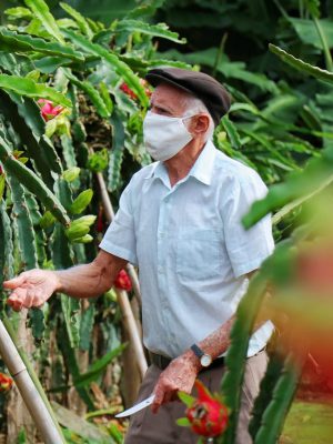
[[[210,185],[213,174],[215,151],[215,147],[213,145],[212,141],[209,140],[188,175],[195,178],[205,185]],[[164,183],[169,182],[168,171],[163,162],[154,162],[152,164],[152,169],[145,179],[150,178],[159,178]]]

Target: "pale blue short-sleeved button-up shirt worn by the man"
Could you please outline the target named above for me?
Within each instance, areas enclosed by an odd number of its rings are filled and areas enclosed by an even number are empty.
[[[100,248],[139,266],[145,346],[175,357],[234,313],[244,276],[274,248],[270,216],[249,231],[241,219],[266,188],[258,173],[208,142],[189,174],[170,185],[162,162],[133,175]],[[266,322],[250,341],[258,353]]]

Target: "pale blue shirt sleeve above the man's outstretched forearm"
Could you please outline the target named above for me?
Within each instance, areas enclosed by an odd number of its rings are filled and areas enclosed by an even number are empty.
[[[137,264],[137,241],[131,205],[132,192],[132,182],[130,182],[121,194],[119,210],[99,246],[108,253]]]

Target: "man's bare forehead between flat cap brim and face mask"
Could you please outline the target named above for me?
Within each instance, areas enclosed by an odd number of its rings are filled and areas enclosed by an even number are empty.
[[[168,107],[171,111],[182,112],[185,109],[185,99],[190,94],[169,83],[160,83],[151,97],[151,104]]]

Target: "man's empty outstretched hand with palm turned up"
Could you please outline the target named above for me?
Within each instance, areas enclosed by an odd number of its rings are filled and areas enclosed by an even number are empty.
[[[18,278],[3,282],[3,289],[12,290],[7,303],[19,312],[23,307],[41,306],[60,283],[56,273],[50,270],[30,270]]]

